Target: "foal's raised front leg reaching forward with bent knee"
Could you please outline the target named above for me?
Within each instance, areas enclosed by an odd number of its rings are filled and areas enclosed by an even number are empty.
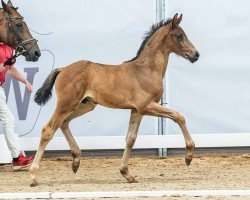
[[[186,165],[190,165],[192,158],[193,158],[193,151],[195,148],[195,144],[191,136],[189,135],[186,122],[185,122],[185,118],[177,111],[163,107],[155,102],[150,103],[143,110],[143,114],[152,115],[156,117],[170,118],[180,126],[185,142],[186,142],[186,147],[187,147],[187,154],[186,154],[185,162],[186,162]]]

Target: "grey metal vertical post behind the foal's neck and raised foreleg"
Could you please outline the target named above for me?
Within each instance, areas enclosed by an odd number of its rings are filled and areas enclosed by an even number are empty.
[[[165,0],[156,0],[156,22],[160,22],[161,20],[165,19]],[[164,92],[162,98],[160,100],[160,104],[165,106],[167,104],[166,99],[166,78],[163,79],[163,86]],[[166,119],[165,118],[158,118],[158,135],[165,135],[166,134]],[[160,148],[158,150],[160,157],[167,156],[167,148]]]

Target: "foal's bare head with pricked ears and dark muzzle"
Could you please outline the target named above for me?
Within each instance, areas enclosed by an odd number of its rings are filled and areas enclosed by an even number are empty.
[[[170,48],[174,53],[194,63],[199,59],[200,54],[189,41],[183,29],[179,26],[181,20],[182,15],[178,17],[178,14],[175,14],[170,22],[170,41],[172,42]]]

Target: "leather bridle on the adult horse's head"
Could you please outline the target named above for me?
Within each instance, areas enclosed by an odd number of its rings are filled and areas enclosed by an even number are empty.
[[[38,42],[35,38],[31,38],[28,40],[24,40],[22,39],[20,32],[16,29],[16,27],[13,26],[12,24],[12,20],[15,19],[21,19],[23,20],[23,17],[19,17],[19,16],[10,16],[7,12],[4,12],[5,18],[7,20],[7,24],[8,24],[8,29],[7,29],[7,38],[8,37],[8,30],[12,31],[13,33],[13,39],[14,39],[14,48],[15,48],[15,55],[14,57],[18,57],[20,55],[23,55],[25,52],[29,52],[30,49],[32,49],[32,47]],[[27,44],[32,44],[31,47],[28,50],[25,50],[25,45]]]

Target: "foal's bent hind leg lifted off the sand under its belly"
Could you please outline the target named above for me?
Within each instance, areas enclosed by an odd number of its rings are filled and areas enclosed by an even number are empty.
[[[78,167],[80,165],[80,158],[81,158],[81,149],[78,147],[70,129],[69,129],[69,123],[72,119],[80,117],[81,115],[93,110],[95,108],[95,104],[91,101],[87,101],[86,103],[81,103],[77,109],[70,114],[69,117],[67,117],[64,122],[61,125],[61,130],[66,138],[66,140],[69,143],[71,152],[72,152],[72,157],[73,157],[73,162],[72,162],[72,171],[74,173],[77,172]]]

